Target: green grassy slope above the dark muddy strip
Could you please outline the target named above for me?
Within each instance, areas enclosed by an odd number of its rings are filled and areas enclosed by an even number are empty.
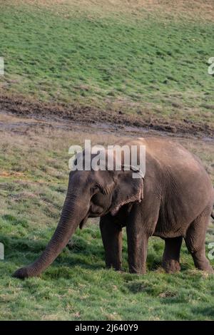
[[[212,21],[1,1],[0,22],[4,92],[214,122]]]

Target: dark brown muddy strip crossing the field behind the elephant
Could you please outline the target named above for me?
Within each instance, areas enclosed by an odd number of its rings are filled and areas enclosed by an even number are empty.
[[[161,119],[144,120],[137,115],[128,115],[118,110],[98,110],[91,106],[76,106],[65,103],[43,103],[25,98],[16,98],[0,94],[0,113],[14,113],[16,116],[35,118],[38,120],[72,120],[83,125],[106,123],[110,125],[124,125],[135,128],[146,128],[167,133],[196,135],[214,138],[214,129],[206,123],[193,123]]]

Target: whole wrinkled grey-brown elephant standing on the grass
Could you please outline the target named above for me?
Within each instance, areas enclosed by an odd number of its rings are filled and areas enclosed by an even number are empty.
[[[178,143],[162,138],[124,140],[146,145],[146,175],[133,179],[132,171],[73,171],[61,219],[39,259],[18,269],[14,277],[38,276],[66,247],[78,225],[101,217],[106,266],[121,269],[122,227],[128,238],[130,272],[146,272],[148,238],[165,239],[163,267],[180,269],[183,238],[195,267],[213,272],[205,257],[205,232],[213,209],[213,187],[207,172]]]

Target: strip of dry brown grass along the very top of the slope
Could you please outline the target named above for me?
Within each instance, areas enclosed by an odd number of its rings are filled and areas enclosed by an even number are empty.
[[[58,14],[65,14],[69,9],[78,12],[94,12],[101,16],[115,13],[141,16],[153,13],[155,16],[170,18],[214,20],[213,0],[14,0],[14,3],[44,6]]]

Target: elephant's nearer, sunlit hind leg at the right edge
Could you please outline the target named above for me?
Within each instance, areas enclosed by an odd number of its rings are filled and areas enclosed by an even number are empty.
[[[205,256],[205,234],[210,220],[210,210],[206,209],[190,225],[185,236],[185,244],[193,257],[195,267],[213,273],[213,268]]]

